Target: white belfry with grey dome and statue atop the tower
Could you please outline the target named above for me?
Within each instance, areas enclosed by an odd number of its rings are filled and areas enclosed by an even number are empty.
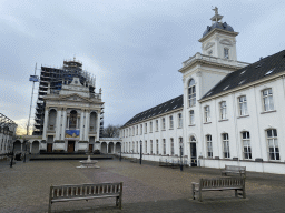
[[[202,39],[199,39],[202,53],[225,61],[237,61],[235,38],[238,32],[235,32],[229,24],[222,21],[223,16],[218,14],[217,7],[213,10],[215,16],[210,18],[212,26],[207,26]]]

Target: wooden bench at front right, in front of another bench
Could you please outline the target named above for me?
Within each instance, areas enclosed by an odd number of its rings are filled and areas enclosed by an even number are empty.
[[[243,199],[246,197],[245,194],[245,179],[244,178],[217,178],[217,179],[200,179],[199,183],[193,183],[193,200],[196,197],[196,192],[198,193],[198,201],[202,202],[202,192],[205,191],[224,191],[224,190],[235,190],[235,196],[242,195]],[[238,193],[242,191],[242,193]]]

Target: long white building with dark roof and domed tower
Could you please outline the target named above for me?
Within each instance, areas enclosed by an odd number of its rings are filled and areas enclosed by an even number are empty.
[[[179,70],[184,95],[129,120],[120,131],[124,155],[139,158],[141,141],[144,160],[175,159],[183,144],[190,165],[285,174],[285,51],[237,61],[238,32],[214,10],[202,53]]]

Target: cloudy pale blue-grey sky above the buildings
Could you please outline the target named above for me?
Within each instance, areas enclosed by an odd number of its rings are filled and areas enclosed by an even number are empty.
[[[181,63],[202,52],[212,10],[239,32],[237,60],[285,47],[285,1],[0,0],[0,113],[22,126],[41,65],[81,61],[102,89],[105,126],[183,94]],[[35,84],[32,109],[37,100]],[[35,110],[31,112],[31,121]]]

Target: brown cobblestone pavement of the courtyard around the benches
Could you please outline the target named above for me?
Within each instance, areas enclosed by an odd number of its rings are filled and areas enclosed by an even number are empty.
[[[47,212],[49,186],[60,184],[124,182],[122,210],[115,199],[52,204],[53,212],[285,212],[285,175],[247,172],[247,199],[234,191],[203,193],[191,200],[191,182],[215,178],[220,170],[160,168],[127,160],[99,161],[100,169],[77,169],[78,161],[0,162],[0,212]]]

